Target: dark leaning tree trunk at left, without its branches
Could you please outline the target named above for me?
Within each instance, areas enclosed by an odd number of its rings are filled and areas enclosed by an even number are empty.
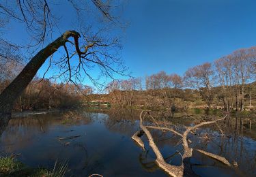
[[[33,79],[38,69],[44,64],[46,59],[50,57],[54,52],[58,50],[59,47],[65,45],[68,42],[69,37],[74,37],[75,42],[80,37],[79,33],[76,31],[66,31],[57,38],[51,44],[48,44],[44,49],[40,50],[38,54],[35,55],[27,63],[24,69],[18,74],[18,76],[8,85],[7,88],[0,95],[0,126],[5,125],[10,120],[12,107],[14,101],[18,98],[21,93],[25,90],[29,82]]]

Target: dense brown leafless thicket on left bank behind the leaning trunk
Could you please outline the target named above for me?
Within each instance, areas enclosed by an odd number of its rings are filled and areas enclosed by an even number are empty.
[[[10,83],[10,80],[0,82],[0,93]],[[82,84],[51,82],[35,78],[25,91],[16,99],[13,110],[38,110],[54,108],[77,108],[93,93],[91,86]]]

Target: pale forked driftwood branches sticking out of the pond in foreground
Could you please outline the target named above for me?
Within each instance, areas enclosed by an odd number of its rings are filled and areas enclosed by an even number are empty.
[[[189,148],[189,146],[188,146],[188,142],[191,142],[190,140],[188,140],[188,133],[192,133],[191,131],[194,131],[195,129],[197,129],[203,125],[214,124],[214,123],[217,123],[218,121],[224,120],[226,118],[226,116],[225,116],[225,117],[219,118],[217,120],[204,121],[203,123],[199,123],[198,125],[195,125],[193,127],[186,127],[186,131],[184,131],[184,133],[182,134],[182,133],[179,133],[179,132],[175,131],[174,129],[171,129],[168,127],[160,127],[158,124],[157,124],[158,127],[143,125],[143,118],[145,116],[145,115],[143,116],[144,112],[145,111],[142,111],[140,114],[141,131],[137,131],[136,133],[134,133],[134,135],[132,135],[132,139],[135,142],[137,142],[137,144],[139,144],[139,146],[141,146],[141,148],[143,148],[143,150],[145,150],[144,143],[140,138],[143,134],[145,134],[149,141],[150,148],[152,148],[152,150],[154,151],[154,153],[156,155],[156,161],[155,161],[156,165],[158,165],[158,167],[160,167],[162,170],[167,172],[170,176],[184,176],[184,174],[190,174],[190,175],[192,174],[193,175],[193,172],[191,172],[192,170],[189,170],[188,161],[187,161],[187,159],[192,157],[192,152],[193,152],[193,148]],[[150,116],[150,117],[156,123],[156,120],[152,116]],[[160,129],[162,131],[171,131],[175,135],[179,135],[182,138],[182,144],[184,146],[184,154],[182,155],[182,165],[175,166],[175,165],[171,165],[171,164],[165,162],[165,159],[162,157],[162,154],[161,154],[160,150],[158,149],[158,147],[156,146],[154,139],[148,129]],[[223,134],[223,131],[221,131],[221,133]],[[228,165],[229,167],[236,167],[235,165],[231,165],[231,163],[229,163],[229,161],[227,161],[227,159],[225,159],[224,157],[221,157],[219,155],[214,155],[210,152],[205,152],[204,150],[199,150],[199,149],[195,149],[195,150],[197,150],[198,152],[201,152],[203,155],[207,155],[208,157],[216,159],[216,160],[220,161],[221,163]],[[188,172],[186,172],[186,170],[188,170]]]

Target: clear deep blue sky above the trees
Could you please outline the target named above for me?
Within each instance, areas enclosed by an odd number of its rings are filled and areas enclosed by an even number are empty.
[[[75,16],[68,5],[59,11],[67,18],[72,13]],[[256,45],[255,0],[130,0],[124,19],[130,26],[124,31],[122,59],[134,77],[161,70],[183,75],[188,67]],[[61,20],[61,33],[76,25],[67,21],[71,20]],[[6,36],[22,42],[27,38],[20,30],[18,24],[11,24]]]

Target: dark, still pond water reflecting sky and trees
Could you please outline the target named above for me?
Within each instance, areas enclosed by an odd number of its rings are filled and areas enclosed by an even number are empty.
[[[139,112],[79,112],[83,118],[69,123],[63,121],[63,112],[13,118],[1,134],[0,152],[18,155],[17,159],[29,167],[51,169],[55,161],[68,161],[67,176],[167,176],[155,165],[155,155],[145,135],[145,151],[131,139],[139,130]],[[193,118],[173,118],[171,122],[195,125]],[[251,125],[251,130],[246,125],[240,128],[236,118],[231,118],[220,126],[225,127],[225,138],[221,138],[214,125],[207,126],[197,130],[197,135],[189,136],[193,142],[190,146],[236,161],[238,170],[194,151],[190,159],[192,170],[198,176],[256,176],[256,125]],[[165,161],[180,165],[180,137],[169,132],[151,132]],[[59,140],[70,136],[78,137]]]

